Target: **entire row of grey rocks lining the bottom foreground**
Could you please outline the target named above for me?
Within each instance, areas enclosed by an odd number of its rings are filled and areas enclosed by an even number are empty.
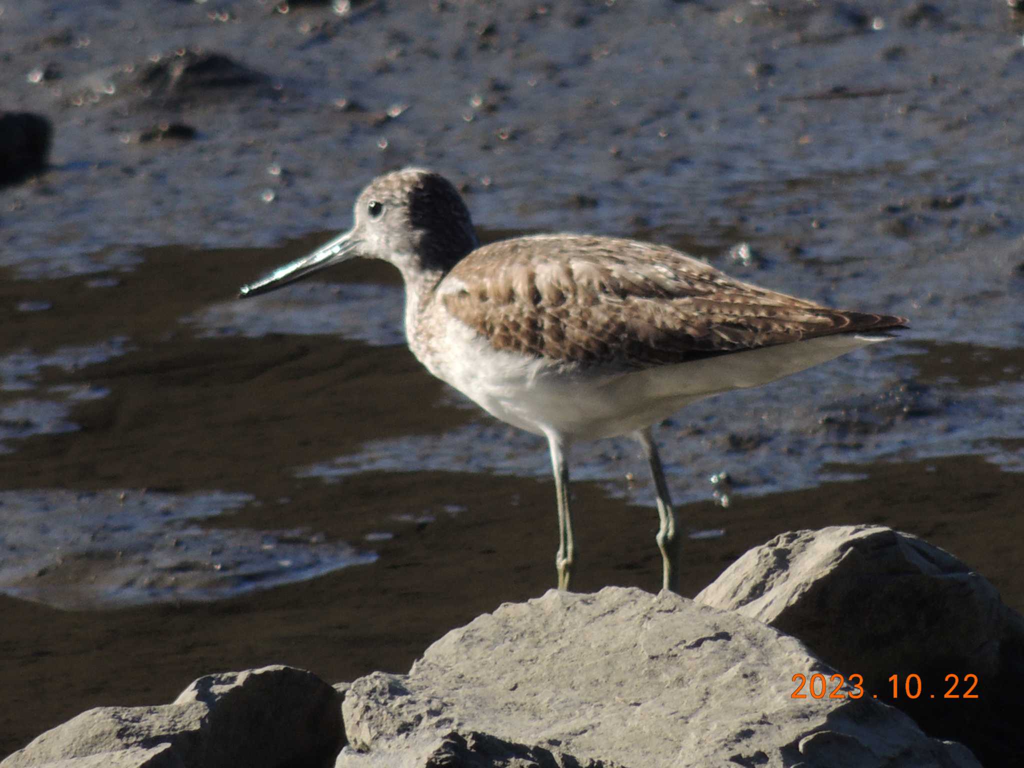
[[[1022,647],[1024,618],[948,553],[836,526],[749,551],[695,600],[551,590],[408,675],[210,675],[0,766],[1008,765]]]

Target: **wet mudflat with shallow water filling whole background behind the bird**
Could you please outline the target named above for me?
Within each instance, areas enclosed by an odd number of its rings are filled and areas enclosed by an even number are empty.
[[[0,6],[4,106],[55,129],[51,169],[0,188],[0,754],[207,672],[403,671],[554,583],[545,447],[412,358],[396,274],[232,298],[408,164],[487,239],[638,237],[911,318],[658,429],[685,594],[780,531],[884,522],[1024,607],[1020,13],[353,6]],[[147,85],[185,49],[265,78]],[[148,140],[179,123],[196,138]],[[635,447],[571,468],[579,588],[656,588]]]

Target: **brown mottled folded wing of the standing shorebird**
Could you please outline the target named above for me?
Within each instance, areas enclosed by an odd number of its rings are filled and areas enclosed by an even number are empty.
[[[496,349],[626,368],[906,322],[758,288],[664,246],[572,234],[480,248],[438,291]]]

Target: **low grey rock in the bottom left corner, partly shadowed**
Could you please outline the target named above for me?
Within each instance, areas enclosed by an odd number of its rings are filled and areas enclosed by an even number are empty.
[[[98,707],[58,725],[3,768],[330,765],[340,695],[315,675],[264,667],[208,675],[161,707]]]

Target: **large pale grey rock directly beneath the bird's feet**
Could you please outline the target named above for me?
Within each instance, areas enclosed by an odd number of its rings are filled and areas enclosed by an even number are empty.
[[[978,765],[879,701],[793,698],[815,672],[831,670],[798,640],[669,592],[552,590],[450,632],[408,675],[353,682],[337,766],[441,765],[446,740],[478,755],[481,734],[566,766]],[[468,755],[447,764],[548,764]]]

